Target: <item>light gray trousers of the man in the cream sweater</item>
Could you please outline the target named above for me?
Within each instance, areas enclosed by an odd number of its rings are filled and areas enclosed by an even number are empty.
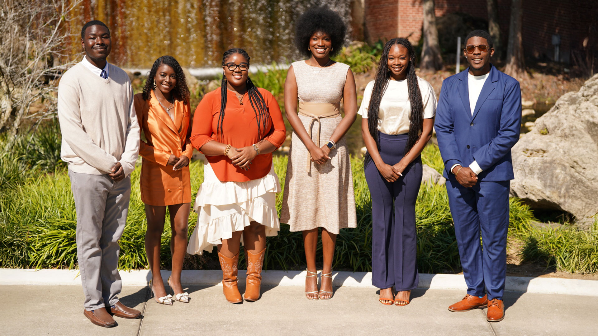
[[[114,182],[108,175],[75,173],[69,169],[77,210],[77,258],[86,310],[118,303],[118,239],[129,210],[131,178]]]

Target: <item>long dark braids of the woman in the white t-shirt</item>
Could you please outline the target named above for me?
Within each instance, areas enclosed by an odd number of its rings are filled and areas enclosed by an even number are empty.
[[[411,105],[410,127],[407,139],[407,146],[405,146],[405,153],[407,154],[413,145],[419,139],[423,130],[423,102],[422,92],[419,90],[419,83],[415,73],[416,54],[411,43],[404,38],[393,38],[386,42],[382,51],[382,57],[376,69],[376,79],[374,80],[374,87],[372,89],[370,105],[368,105],[368,129],[370,135],[376,141],[376,147],[380,151],[380,131],[378,130],[378,111],[380,109],[380,101],[388,87],[390,80],[390,69],[388,68],[388,54],[390,47],[400,44],[407,48],[409,52],[409,65],[407,66],[407,88],[408,99]],[[366,152],[364,156],[364,164],[367,165],[371,161],[370,153]]]

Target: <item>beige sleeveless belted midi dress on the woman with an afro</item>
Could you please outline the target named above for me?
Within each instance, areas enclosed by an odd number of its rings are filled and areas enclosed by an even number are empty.
[[[299,118],[313,142],[318,145],[319,141],[322,146],[343,118],[340,114],[327,117],[318,111],[322,108],[338,111],[349,66],[337,62],[320,69],[303,60],[292,63],[292,66],[297,78]],[[318,70],[320,72],[314,72]],[[280,214],[280,222],[291,225],[291,231],[322,227],[338,234],[340,228],[357,226],[353,176],[345,136],[337,141],[336,149],[331,149],[328,156],[331,160],[325,164],[311,162],[309,151],[293,132]]]

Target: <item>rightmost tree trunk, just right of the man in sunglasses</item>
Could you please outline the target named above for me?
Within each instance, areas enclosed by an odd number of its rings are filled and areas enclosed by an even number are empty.
[[[521,1],[512,0],[511,2],[511,24],[509,25],[507,66],[505,66],[505,74],[516,79],[527,77],[523,57],[523,39],[521,38],[521,22],[523,21]]]

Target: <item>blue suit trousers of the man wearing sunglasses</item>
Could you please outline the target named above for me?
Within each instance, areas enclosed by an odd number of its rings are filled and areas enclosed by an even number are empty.
[[[502,300],[507,273],[510,183],[481,181],[465,188],[457,181],[447,181],[467,294],[488,294],[489,300]]]

